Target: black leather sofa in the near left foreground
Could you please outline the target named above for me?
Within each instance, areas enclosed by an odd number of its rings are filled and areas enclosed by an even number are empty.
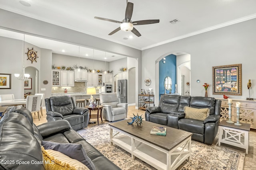
[[[0,170],[44,170],[41,141],[81,144],[96,170],[120,170],[86,142],[68,121],[36,126],[28,109],[16,106],[0,120]]]

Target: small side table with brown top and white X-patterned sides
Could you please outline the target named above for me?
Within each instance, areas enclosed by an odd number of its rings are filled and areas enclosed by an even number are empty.
[[[248,154],[250,124],[241,124],[242,126],[237,126],[234,123],[227,123],[226,120],[222,120],[219,123],[218,145],[220,146],[220,143],[226,143],[228,145],[243,148],[246,150],[246,154]]]

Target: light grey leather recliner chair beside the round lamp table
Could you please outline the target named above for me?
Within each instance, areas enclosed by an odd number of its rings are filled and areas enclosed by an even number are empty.
[[[118,103],[116,93],[100,94],[100,103],[103,106],[103,119],[116,121],[127,117],[128,104]]]

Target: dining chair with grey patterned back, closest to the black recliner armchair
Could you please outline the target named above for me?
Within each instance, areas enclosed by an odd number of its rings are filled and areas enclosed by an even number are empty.
[[[26,100],[26,108],[31,112],[31,113],[37,113],[38,114],[38,119],[40,120],[40,106],[41,106],[41,95],[33,95],[33,96],[28,96]]]

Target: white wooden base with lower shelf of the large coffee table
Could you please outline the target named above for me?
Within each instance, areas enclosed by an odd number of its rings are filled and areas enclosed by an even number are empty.
[[[110,126],[110,145],[113,143],[131,153],[132,159],[136,156],[158,170],[175,170],[184,160],[190,161],[191,136],[169,151]]]

